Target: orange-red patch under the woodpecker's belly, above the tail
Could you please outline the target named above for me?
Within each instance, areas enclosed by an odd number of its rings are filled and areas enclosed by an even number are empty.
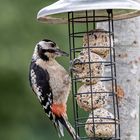
[[[52,104],[51,109],[52,112],[58,117],[66,114],[65,104]]]

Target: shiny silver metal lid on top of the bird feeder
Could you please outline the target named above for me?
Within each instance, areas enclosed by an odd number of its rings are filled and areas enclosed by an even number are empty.
[[[59,0],[38,12],[37,19],[47,23],[67,23],[67,12],[96,10],[96,15],[104,15],[106,9],[113,9],[114,20],[140,15],[138,0]]]

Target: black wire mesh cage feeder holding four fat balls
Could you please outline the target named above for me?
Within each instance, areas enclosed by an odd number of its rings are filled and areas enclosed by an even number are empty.
[[[97,29],[99,22],[107,29]],[[68,28],[76,133],[81,139],[119,140],[113,12],[69,12]]]

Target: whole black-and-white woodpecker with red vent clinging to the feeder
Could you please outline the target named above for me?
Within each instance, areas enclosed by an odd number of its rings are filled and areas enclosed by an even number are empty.
[[[70,77],[55,60],[58,56],[67,55],[53,41],[48,39],[40,41],[32,56],[29,80],[32,90],[37,95],[45,113],[53,122],[58,135],[64,136],[64,126],[74,140],[79,140],[66,115],[66,103],[71,85]]]

